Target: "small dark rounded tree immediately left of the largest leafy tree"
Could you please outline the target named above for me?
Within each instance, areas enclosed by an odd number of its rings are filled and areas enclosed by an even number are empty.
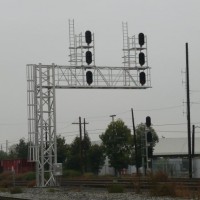
[[[99,146],[97,144],[92,145],[88,152],[88,158],[91,172],[98,174],[105,162],[103,146]]]

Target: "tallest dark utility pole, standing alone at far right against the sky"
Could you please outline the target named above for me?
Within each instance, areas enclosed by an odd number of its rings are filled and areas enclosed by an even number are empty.
[[[189,178],[192,178],[192,156],[191,156],[191,123],[190,123],[190,85],[189,85],[189,56],[188,43],[186,48],[186,93],[187,93],[187,129],[188,129],[188,160],[189,160]]]

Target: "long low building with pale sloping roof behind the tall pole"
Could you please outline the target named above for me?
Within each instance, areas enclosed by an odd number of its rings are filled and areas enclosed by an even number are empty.
[[[160,138],[153,152],[153,171],[162,170],[171,177],[188,177],[188,167],[188,139]],[[194,142],[192,177],[200,178],[200,138]]]

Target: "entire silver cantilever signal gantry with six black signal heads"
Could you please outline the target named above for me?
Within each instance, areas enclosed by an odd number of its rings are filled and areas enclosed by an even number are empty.
[[[151,88],[146,36],[129,37],[126,23],[123,41],[124,66],[96,66],[94,34],[87,30],[76,35],[74,20],[69,20],[70,65],[27,65],[29,160],[36,162],[38,187],[56,185],[62,174],[57,163],[56,89]]]

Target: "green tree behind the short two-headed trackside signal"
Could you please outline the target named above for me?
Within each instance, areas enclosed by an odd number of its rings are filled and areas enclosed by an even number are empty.
[[[158,135],[156,134],[155,130],[150,127],[150,132],[152,133],[152,147],[154,149],[156,143],[159,141],[158,139]],[[139,124],[136,127],[136,143],[137,143],[137,167],[141,167],[142,166],[142,152],[145,148],[145,132],[146,132],[146,125],[144,123]],[[133,155],[133,161],[134,164],[135,162],[135,156]]]

